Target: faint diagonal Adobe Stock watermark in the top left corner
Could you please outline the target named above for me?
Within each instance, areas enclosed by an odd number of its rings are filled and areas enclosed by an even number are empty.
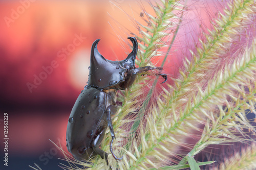
[[[15,20],[17,20],[19,18],[19,16],[21,14],[23,14],[26,9],[28,9],[31,5],[31,3],[35,2],[36,0],[20,0],[19,3],[20,5],[15,9],[11,9],[11,16],[8,17],[8,16],[5,16],[4,17],[4,20],[5,20],[5,23],[7,25],[7,27],[9,28],[10,27],[10,23],[11,22],[14,22]]]

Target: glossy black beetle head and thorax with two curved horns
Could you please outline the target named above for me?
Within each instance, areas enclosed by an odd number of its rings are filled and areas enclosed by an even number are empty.
[[[135,37],[129,37],[133,43],[133,51],[122,61],[106,60],[97,49],[100,39],[93,42],[91,50],[91,65],[88,80],[89,87],[106,88],[115,86],[124,81],[127,69],[135,67],[135,58],[138,50],[138,42]]]

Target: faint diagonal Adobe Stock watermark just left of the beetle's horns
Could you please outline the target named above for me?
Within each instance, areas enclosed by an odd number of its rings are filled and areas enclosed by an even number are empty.
[[[67,56],[69,56],[72,52],[75,51],[76,47],[79,46],[86,37],[83,37],[82,34],[80,35],[75,34],[75,38],[73,39],[72,43],[69,43],[66,48],[62,48],[57,52],[57,58],[60,58],[60,61],[65,61]],[[54,68],[57,68],[59,63],[57,60],[52,60],[50,65],[42,66],[42,70],[38,75],[34,74],[34,81],[33,83],[27,82],[27,87],[32,93],[32,89],[37,88],[43,80],[46,80],[48,75],[51,75]]]

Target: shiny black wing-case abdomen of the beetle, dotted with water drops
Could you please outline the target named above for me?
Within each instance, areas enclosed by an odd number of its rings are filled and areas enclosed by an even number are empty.
[[[114,105],[111,96],[96,88],[86,88],[79,94],[67,127],[67,147],[77,160],[87,161],[97,155],[92,145],[100,145],[105,135],[108,123],[104,112],[110,105]],[[94,141],[97,136],[99,142]]]

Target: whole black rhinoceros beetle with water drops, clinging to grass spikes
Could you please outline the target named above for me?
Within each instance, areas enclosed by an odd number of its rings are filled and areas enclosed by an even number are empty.
[[[133,43],[133,51],[122,61],[105,59],[97,50],[97,39],[92,44],[91,66],[88,85],[79,94],[72,108],[67,127],[67,148],[73,157],[80,161],[100,155],[108,163],[108,154],[100,149],[106,128],[110,128],[112,140],[110,151],[116,160],[120,160],[112,150],[115,133],[111,115],[118,110],[116,104],[116,90],[130,87],[137,74],[156,69],[161,72],[162,67],[135,67],[138,42],[135,37],[129,37]],[[166,82],[165,74],[162,76]],[[162,83],[164,83],[162,82]]]

